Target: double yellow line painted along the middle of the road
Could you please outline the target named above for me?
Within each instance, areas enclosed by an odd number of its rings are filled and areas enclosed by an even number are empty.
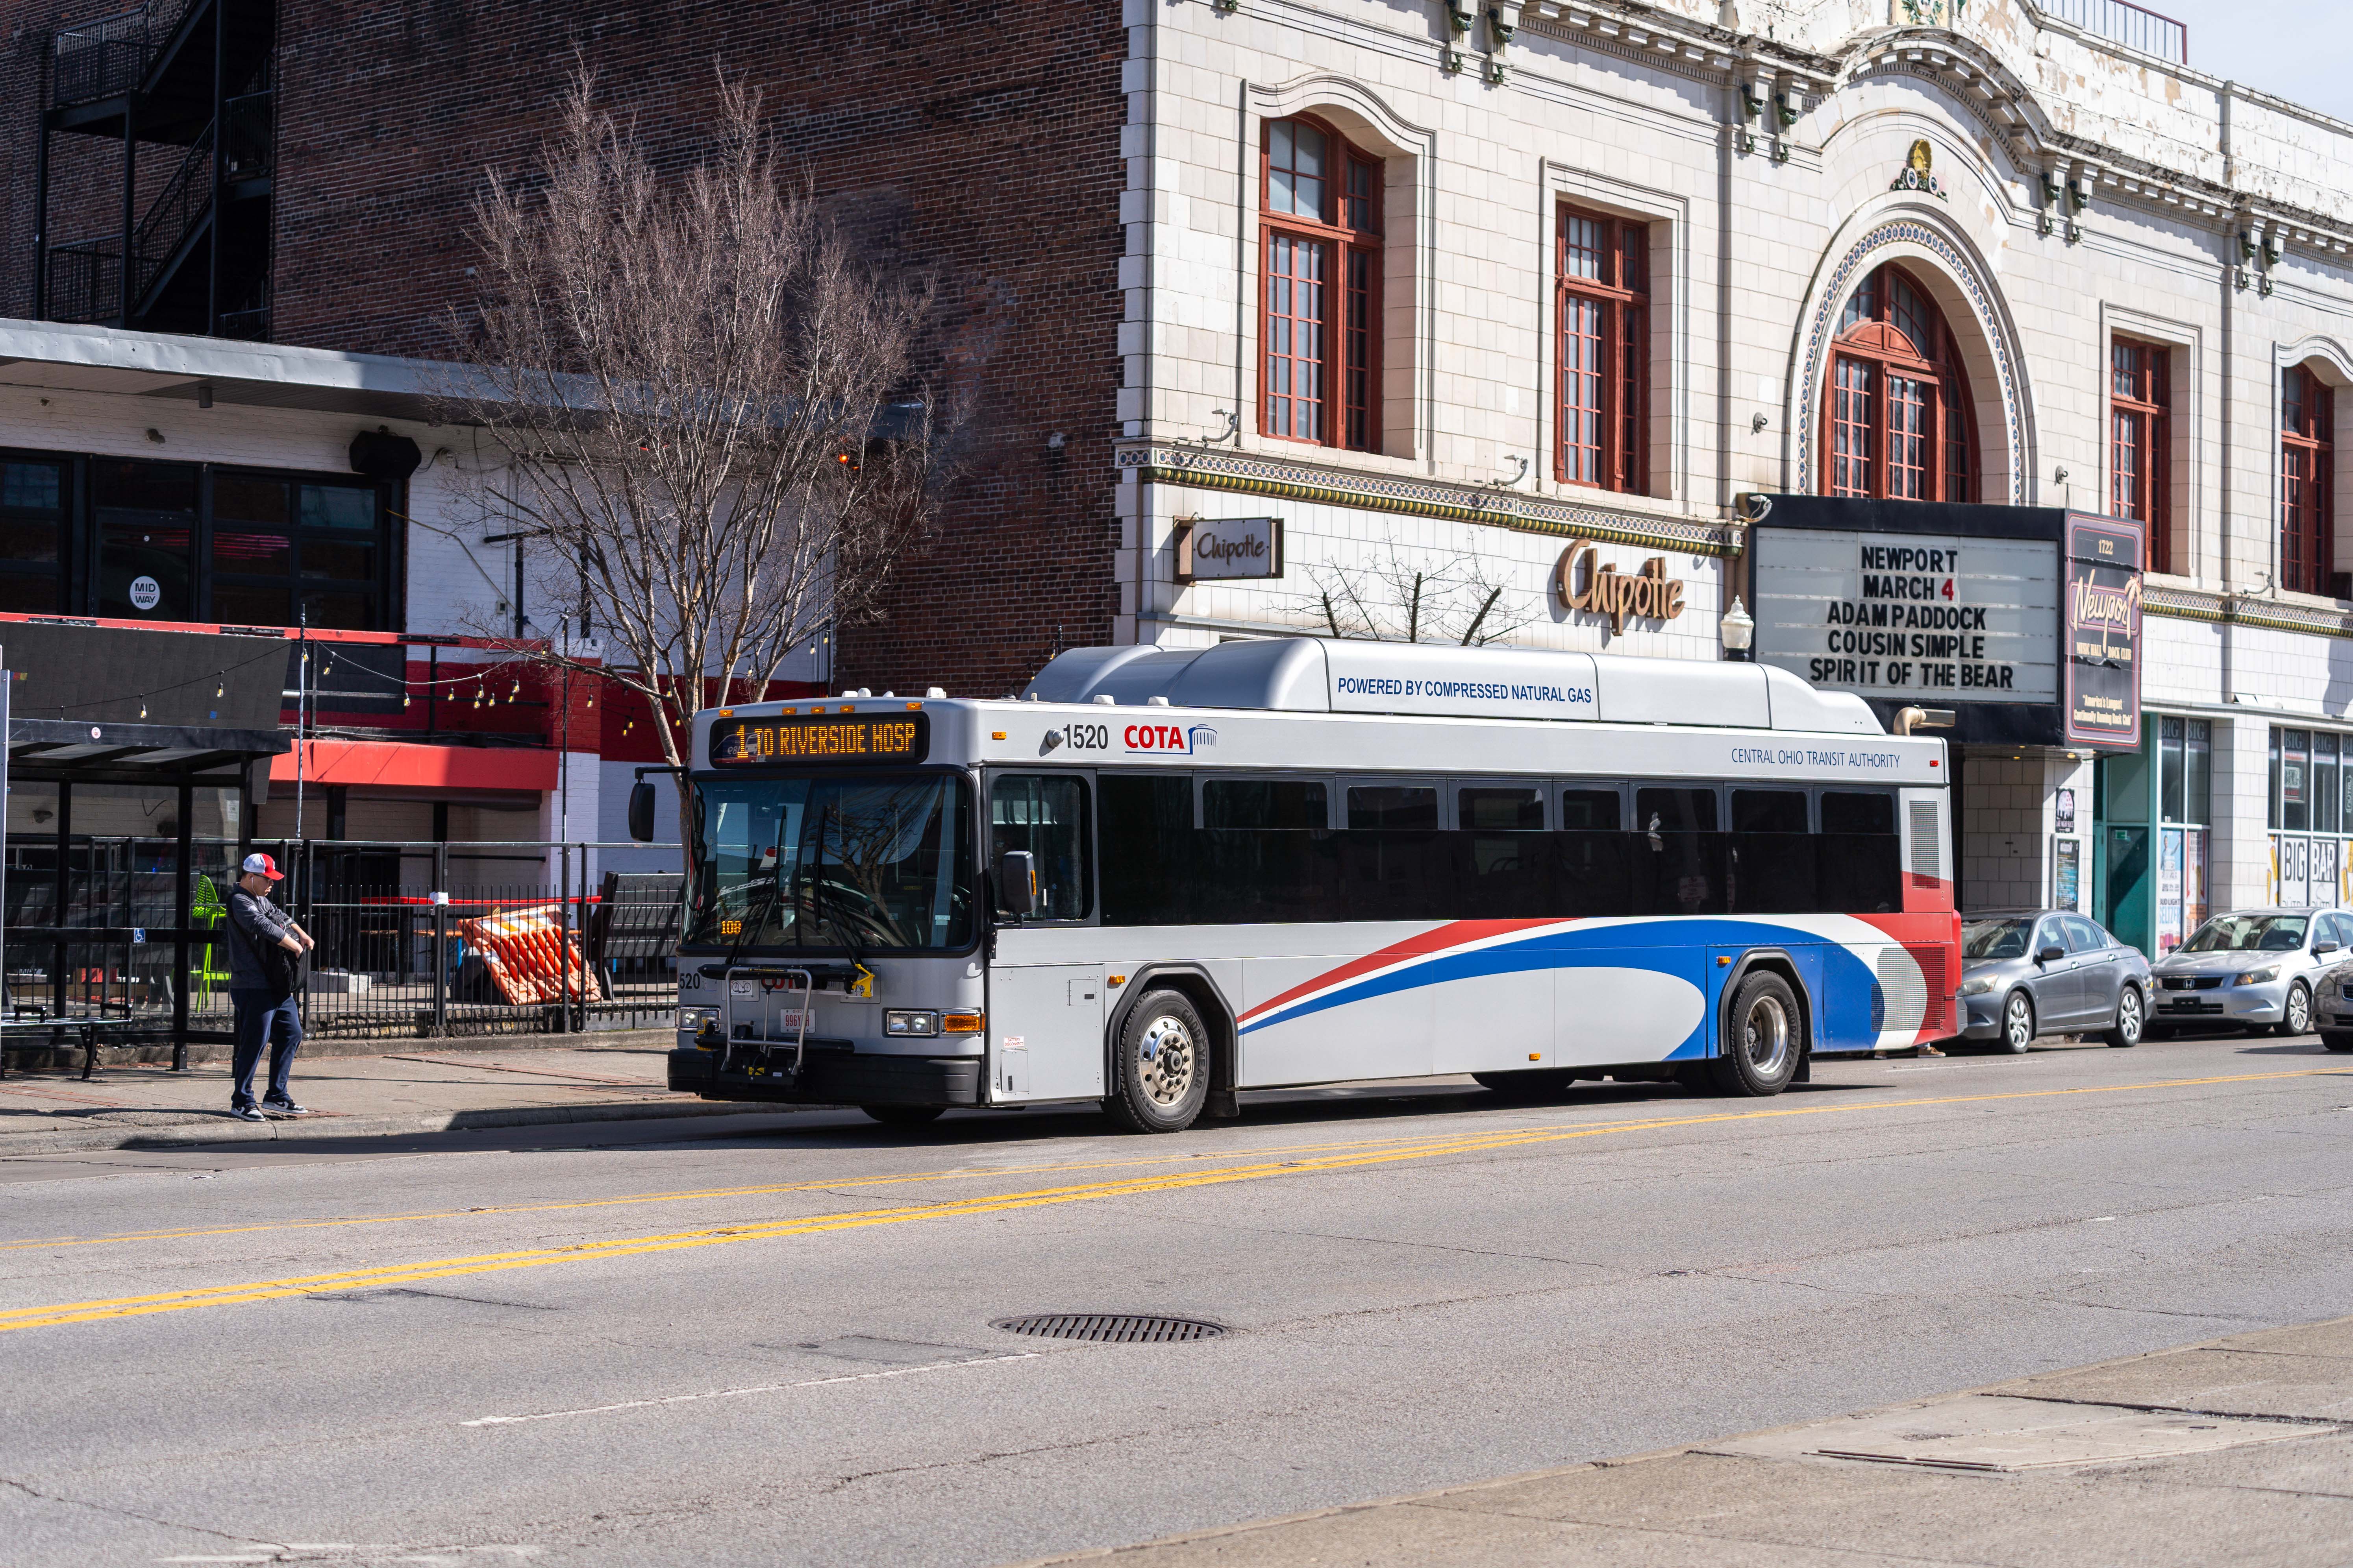
[[[527,1248],[511,1253],[473,1253],[466,1258],[433,1258],[424,1262],[384,1265],[369,1269],[344,1269],[334,1274],[294,1274],[285,1279],[256,1279],[233,1286],[205,1286],[195,1291],[162,1291],[155,1295],[118,1295],[106,1300],[59,1302],[52,1307],[0,1309],[0,1333],[14,1328],[54,1328],[61,1324],[92,1324],[101,1319],[151,1316],[158,1312],[193,1312],[198,1307],[233,1307],[240,1302],[285,1300],[292,1295],[332,1295],[344,1291],[381,1291],[428,1279],[454,1279],[461,1274],[496,1274],[504,1269],[539,1269],[558,1262],[600,1262],[607,1258],[638,1258],[645,1253],[678,1253],[699,1246],[729,1246],[739,1241],[774,1241],[781,1237],[814,1237],[840,1229],[871,1229],[880,1225],[913,1225],[918,1220],[962,1220],[1014,1208],[1045,1208],[1049,1204],[1089,1204],[1096,1199],[1141,1197],[1148,1192],[1181,1192],[1186,1187],[1219,1187],[1228,1182],[1252,1182],[1278,1175],[1315,1175],[1329,1171],[1360,1171],[1412,1159],[1442,1159],[1449,1154],[1492,1154],[1525,1150],[1577,1138],[1609,1138],[1619,1133],[1645,1133],[1678,1126],[1711,1126],[1722,1121],[1777,1121],[1788,1117],[1833,1117],[1854,1112],[1977,1105],[1988,1100],[2057,1100],[2097,1093],[2141,1093],[2155,1088],[2202,1088],[2212,1084],[2259,1084],[2268,1079],[2348,1077],[2344,1070],[2301,1072],[2242,1072],[2205,1079],[2155,1079],[2146,1084],[2099,1084],[2087,1088],[2033,1088],[2014,1093],[1939,1095],[1915,1100],[1864,1100],[1833,1105],[1781,1105],[1774,1110],[1713,1112],[1706,1117],[1657,1117],[1645,1121],[1605,1121],[1579,1126],[1494,1128],[1459,1133],[1447,1138],[1407,1140],[1398,1145],[1344,1145],[1327,1152],[1285,1150],[1278,1159],[1257,1154],[1240,1164],[1200,1166],[1191,1171],[1160,1171],[1113,1180],[1073,1182],[1066,1187],[1035,1187],[1028,1192],[1005,1192],[995,1197],[948,1199],[939,1204],[901,1204],[894,1208],[861,1208],[849,1213],[795,1215],[786,1220],[746,1220],[711,1229],[675,1229],[647,1237],[616,1237],[612,1241],[579,1241],[574,1246]],[[958,1171],[953,1175],[998,1175],[993,1171]]]

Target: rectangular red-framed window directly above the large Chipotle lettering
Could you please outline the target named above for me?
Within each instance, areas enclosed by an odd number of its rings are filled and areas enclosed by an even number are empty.
[[[1649,487],[1649,226],[1562,207],[1553,259],[1560,407],[1553,475]]]

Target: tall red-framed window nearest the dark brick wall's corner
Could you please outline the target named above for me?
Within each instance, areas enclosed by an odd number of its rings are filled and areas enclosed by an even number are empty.
[[[1381,160],[1322,120],[1268,120],[1259,153],[1259,430],[1381,444]]]

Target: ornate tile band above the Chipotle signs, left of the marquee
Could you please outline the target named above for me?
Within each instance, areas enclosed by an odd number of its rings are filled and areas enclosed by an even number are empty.
[[[1351,505],[1369,512],[1447,517],[1452,522],[1482,522],[1522,534],[1558,534],[1562,538],[1649,545],[1685,550],[1689,555],[1739,555],[1748,534],[1739,524],[1645,517],[1640,512],[1614,512],[1598,505],[1527,496],[1482,484],[1351,473],[1346,468],[1320,468],[1247,451],[1217,451],[1174,442],[1122,447],[1118,465],[1122,475],[1132,473],[1148,484],[1184,484],[1191,489]]]

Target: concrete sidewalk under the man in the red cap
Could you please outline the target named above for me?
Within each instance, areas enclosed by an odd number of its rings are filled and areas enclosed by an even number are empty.
[[[379,1046],[381,1056],[327,1058],[304,1051],[294,1060],[294,1098],[315,1114],[273,1121],[228,1117],[228,1063],[202,1063],[188,1072],[151,1063],[101,1065],[87,1084],[78,1072],[12,1070],[0,1079],[0,1159],[795,1110],[671,1093],[664,1084],[668,1030],[539,1039],[548,1044],[480,1051],[473,1046],[487,1041],[405,1041]],[[266,1077],[268,1060],[256,1074],[256,1091]]]

